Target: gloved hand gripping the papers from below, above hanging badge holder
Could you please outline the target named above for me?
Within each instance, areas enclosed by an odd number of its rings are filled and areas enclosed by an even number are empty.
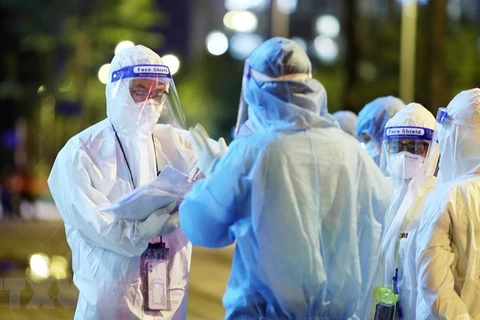
[[[171,219],[171,215],[174,215],[171,213],[176,209],[176,207],[176,201],[172,201],[166,207],[152,212],[152,214],[150,214],[150,216],[148,216],[148,218],[144,221],[139,221],[137,223],[137,231],[139,235],[146,240],[150,240],[157,236],[163,235],[163,233],[168,233],[163,229],[166,227],[166,224],[168,225],[167,229],[171,229],[168,221]]]

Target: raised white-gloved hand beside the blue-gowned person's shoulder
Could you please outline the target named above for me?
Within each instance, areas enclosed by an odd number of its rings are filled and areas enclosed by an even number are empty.
[[[214,164],[227,152],[228,147],[225,139],[218,139],[218,151],[214,150],[209,143],[210,137],[201,124],[190,128],[193,138],[193,147],[198,155],[197,167],[208,176],[213,170]]]

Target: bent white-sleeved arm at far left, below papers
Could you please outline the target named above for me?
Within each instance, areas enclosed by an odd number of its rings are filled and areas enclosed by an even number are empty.
[[[88,170],[87,170],[88,169]],[[137,221],[116,219],[98,212],[110,203],[92,183],[102,172],[83,150],[66,146],[57,157],[48,184],[65,224],[88,242],[124,256],[141,255],[148,244],[137,230]]]

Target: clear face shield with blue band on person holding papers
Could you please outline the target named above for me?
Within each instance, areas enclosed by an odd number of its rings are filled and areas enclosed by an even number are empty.
[[[128,90],[132,104],[141,109],[140,115],[145,107],[151,105],[162,110],[158,123],[185,127],[185,114],[170,69],[166,65],[127,66],[114,71],[111,82],[117,88],[114,92],[121,92],[120,88]]]

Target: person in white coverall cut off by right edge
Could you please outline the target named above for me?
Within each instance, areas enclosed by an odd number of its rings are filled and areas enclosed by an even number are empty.
[[[438,121],[437,187],[418,229],[417,319],[480,319],[480,89],[460,92]]]

